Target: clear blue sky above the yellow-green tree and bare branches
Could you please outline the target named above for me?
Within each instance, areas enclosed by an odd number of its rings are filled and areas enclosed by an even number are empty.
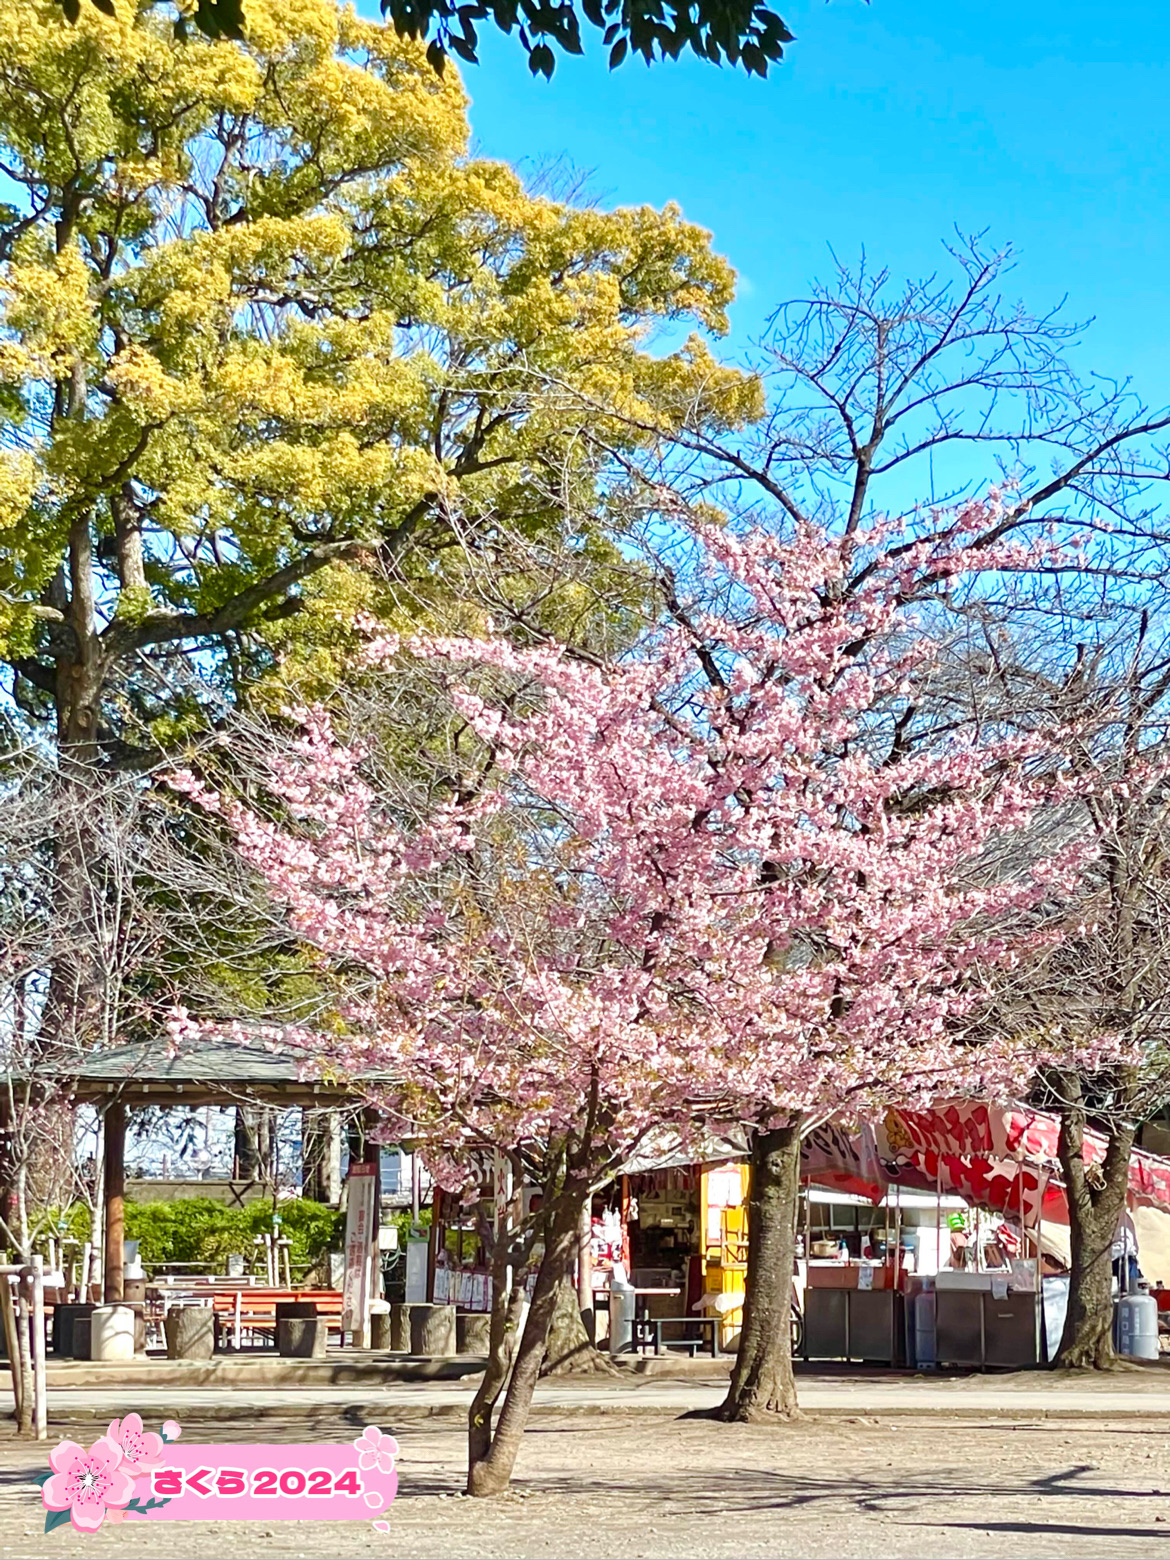
[[[374,0],[362,0],[373,12]],[[799,0],[768,81],[597,47],[534,80],[485,30],[463,72],[487,156],[566,156],[604,204],[677,200],[743,278],[735,342],[864,246],[924,275],[958,223],[1012,240],[1009,290],[1097,317],[1083,368],[1167,393],[1170,44],[1151,0]],[[490,36],[488,36],[490,34]]]

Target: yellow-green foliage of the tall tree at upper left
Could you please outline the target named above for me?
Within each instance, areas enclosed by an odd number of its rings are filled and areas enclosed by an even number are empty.
[[[599,441],[758,412],[699,335],[651,340],[725,328],[707,232],[470,159],[456,72],[331,0],[251,0],[243,44],[179,44],[154,0],[76,25],[5,0],[0,156],[20,187],[0,207],[0,651],[33,651],[42,688],[72,654],[70,563],[94,573],[111,683],[144,649],[217,643],[257,583],[231,627],[287,636],[265,613],[314,549],[385,555],[452,512],[555,534],[593,501]],[[103,548],[117,502],[145,590]],[[314,632],[368,594],[321,580]]]

